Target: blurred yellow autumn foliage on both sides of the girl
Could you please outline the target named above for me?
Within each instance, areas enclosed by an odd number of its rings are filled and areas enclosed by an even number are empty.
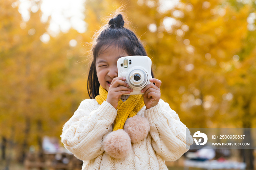
[[[54,130],[53,134],[60,136],[61,124],[80,101],[89,97],[89,61],[80,43],[90,43],[94,32],[102,26],[103,17],[110,16],[122,1],[86,1],[87,31],[79,34],[69,30],[50,37],[48,43],[40,40],[49,24],[40,22],[40,11],[31,13],[25,23],[17,8],[11,6],[13,2],[0,1],[0,81],[5,82],[0,85],[0,107],[5,113],[0,117],[0,125],[11,128],[11,122],[15,122],[16,139],[22,140],[25,118],[29,117],[31,123],[42,120],[45,134]],[[240,116],[246,114],[243,100],[248,93],[255,94],[252,87],[256,84],[256,36],[248,31],[246,19],[255,9],[249,5],[238,9],[222,1],[209,1],[209,5],[191,0],[159,13],[158,6],[150,8],[150,1],[146,3],[132,0],[126,5],[125,27],[131,26],[146,45],[156,65],[155,76],[162,81],[162,98],[177,111],[182,122],[200,120],[198,126],[204,127],[206,120],[218,124],[220,118],[224,120],[223,115],[232,117],[232,109],[238,109]],[[152,32],[150,24],[155,26]],[[76,46],[69,45],[71,40],[77,42]],[[234,61],[234,55],[240,58]],[[184,87],[182,93],[178,91],[180,86]],[[224,100],[223,95],[229,93],[233,99]],[[238,104],[233,107],[230,103],[235,96]],[[255,100],[254,97],[250,102]],[[11,130],[0,133],[10,135]]]

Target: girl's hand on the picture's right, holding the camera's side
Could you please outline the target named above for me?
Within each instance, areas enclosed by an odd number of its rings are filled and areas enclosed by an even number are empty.
[[[150,82],[152,83],[141,90],[142,93],[145,92],[143,97],[147,109],[157,105],[161,97],[160,86],[162,82],[156,78],[150,79]],[[155,83],[155,85],[153,83]]]

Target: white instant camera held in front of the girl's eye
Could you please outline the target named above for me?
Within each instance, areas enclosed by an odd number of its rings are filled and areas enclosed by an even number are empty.
[[[129,88],[133,89],[130,94],[144,94],[140,92],[151,82],[151,59],[147,56],[133,55],[121,57],[117,60],[118,77],[125,77]]]

